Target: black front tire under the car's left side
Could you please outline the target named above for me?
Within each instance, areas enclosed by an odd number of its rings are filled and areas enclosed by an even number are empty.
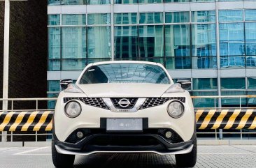
[[[55,142],[52,140],[52,162],[57,168],[70,168],[73,167],[75,161],[75,155],[64,155],[58,153],[55,148]]]

